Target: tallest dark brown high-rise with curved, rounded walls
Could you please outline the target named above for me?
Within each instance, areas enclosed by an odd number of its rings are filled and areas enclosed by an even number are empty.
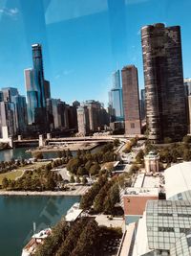
[[[187,131],[180,26],[158,23],[141,29],[149,139],[181,140]]]

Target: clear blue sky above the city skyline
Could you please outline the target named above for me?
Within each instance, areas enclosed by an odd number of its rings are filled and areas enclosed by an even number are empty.
[[[138,67],[143,88],[140,28],[180,25],[184,77],[191,77],[190,0],[0,0],[0,86],[25,94],[32,43],[43,46],[52,97],[108,102],[111,75]]]

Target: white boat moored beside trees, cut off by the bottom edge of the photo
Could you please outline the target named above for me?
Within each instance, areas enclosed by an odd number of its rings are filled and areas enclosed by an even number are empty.
[[[44,240],[52,233],[51,228],[45,228],[38,233],[32,235],[32,239],[22,250],[21,256],[32,256],[34,255],[36,248],[39,244],[43,244]]]

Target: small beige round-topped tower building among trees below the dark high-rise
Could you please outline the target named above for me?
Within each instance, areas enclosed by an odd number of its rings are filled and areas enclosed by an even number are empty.
[[[150,151],[144,156],[145,172],[158,173],[159,172],[159,153],[156,151]]]

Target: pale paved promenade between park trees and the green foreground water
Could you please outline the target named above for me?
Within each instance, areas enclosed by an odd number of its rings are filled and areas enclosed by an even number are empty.
[[[83,196],[91,187],[77,186],[70,191],[6,191],[0,190],[0,196]]]

